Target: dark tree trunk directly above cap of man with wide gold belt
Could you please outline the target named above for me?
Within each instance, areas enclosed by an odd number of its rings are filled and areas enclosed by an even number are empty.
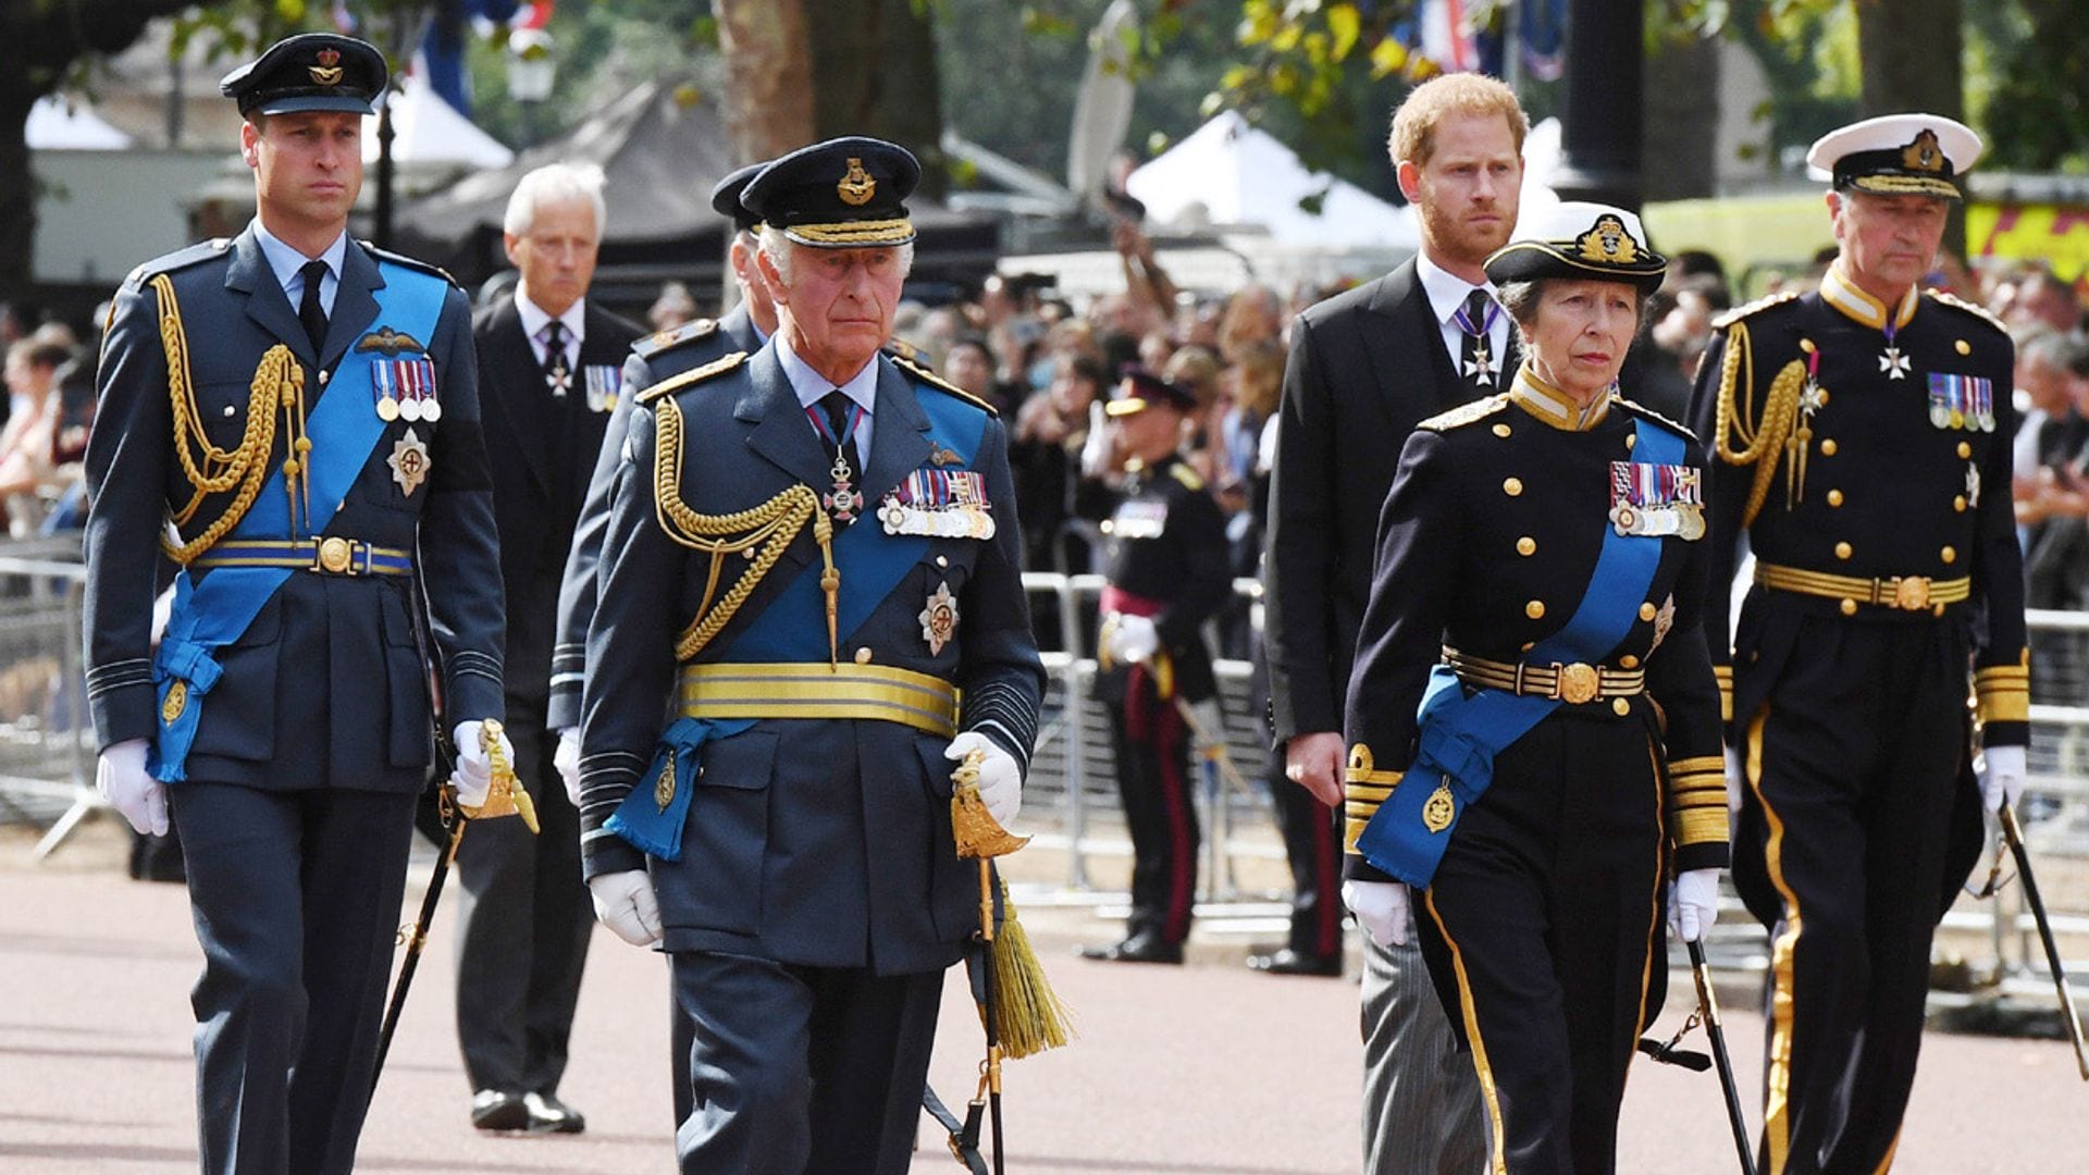
[[[942,197],[942,84],[930,6],[823,0],[811,40],[819,138],[869,134],[898,142],[921,159],[923,194]]]

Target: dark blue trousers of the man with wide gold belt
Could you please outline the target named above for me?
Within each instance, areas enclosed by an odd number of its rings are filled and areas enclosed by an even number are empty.
[[[683,1175],[907,1171],[936,1045],[942,972],[879,976],[675,951],[696,1024]]]

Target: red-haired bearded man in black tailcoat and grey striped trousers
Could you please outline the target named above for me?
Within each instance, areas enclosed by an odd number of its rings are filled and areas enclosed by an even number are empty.
[[[1400,445],[1427,416],[1498,391],[1517,366],[1483,263],[1517,222],[1527,125],[1517,96],[1492,77],[1416,86],[1387,146],[1421,224],[1421,253],[1306,309],[1291,332],[1264,588],[1270,725],[1285,774],[1316,801],[1304,820],[1333,820],[1343,803],[1343,694]],[[1408,930],[1406,891],[1354,855],[1375,807],[1366,792],[1349,792],[1343,822],[1343,897],[1368,932],[1364,1171],[1475,1171],[1487,1156],[1479,1083],[1454,1056]],[[1329,960],[1285,949],[1262,966],[1312,972]]]

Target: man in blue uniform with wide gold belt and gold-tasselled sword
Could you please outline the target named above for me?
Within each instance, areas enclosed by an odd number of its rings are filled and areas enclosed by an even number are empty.
[[[1007,822],[1036,736],[1007,435],[879,353],[917,178],[871,138],[765,167],[777,332],[641,391],[616,475],[581,836],[597,914],[662,943],[696,1022],[687,1173],[907,1169],[980,918],[950,769],[978,753]]]

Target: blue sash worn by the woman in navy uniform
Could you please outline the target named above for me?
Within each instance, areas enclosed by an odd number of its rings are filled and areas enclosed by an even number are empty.
[[[1638,441],[1632,460],[1640,464],[1682,464],[1684,441],[1667,429],[1636,420]],[[1661,567],[1661,537],[1621,535],[1604,521],[1602,552],[1590,575],[1581,604],[1565,627],[1538,642],[1523,661],[1529,665],[1571,665],[1602,661],[1625,640],[1640,615],[1646,588]],[[1414,765],[1379,805],[1356,851],[1372,868],[1414,886],[1427,886],[1443,859],[1443,847],[1458,828],[1466,805],[1494,782],[1494,759],[1515,740],[1529,734],[1558,707],[1558,698],[1535,698],[1506,690],[1466,694],[1450,665],[1429,671],[1423,692],[1421,736]],[[1439,832],[1423,824],[1423,805],[1448,784],[1452,817]]]

